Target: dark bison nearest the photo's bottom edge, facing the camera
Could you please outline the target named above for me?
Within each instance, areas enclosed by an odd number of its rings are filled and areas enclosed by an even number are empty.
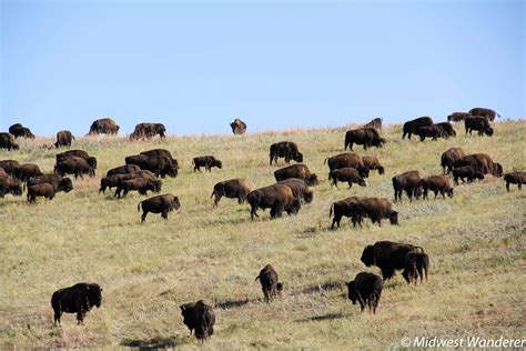
[[[211,305],[200,300],[195,303],[184,303],[180,305],[183,323],[190,329],[190,334],[194,331],[195,338],[203,340],[214,333],[215,313]]]

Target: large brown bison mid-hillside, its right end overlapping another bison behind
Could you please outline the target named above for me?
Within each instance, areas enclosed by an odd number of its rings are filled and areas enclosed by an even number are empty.
[[[254,220],[257,214],[257,209],[271,209],[271,218],[281,217],[283,211],[289,214],[296,214],[302,203],[300,199],[295,198],[291,188],[282,184],[272,184],[251,191],[246,195],[246,201],[251,205],[250,217]]]

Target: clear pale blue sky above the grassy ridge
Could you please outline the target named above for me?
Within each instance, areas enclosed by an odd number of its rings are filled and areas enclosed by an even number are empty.
[[[2,131],[526,114],[520,0],[0,1]]]

